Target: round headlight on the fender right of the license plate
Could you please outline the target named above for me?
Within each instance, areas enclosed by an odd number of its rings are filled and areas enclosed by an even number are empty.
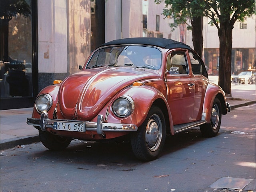
[[[112,109],[117,117],[127,117],[134,111],[134,101],[125,95],[114,101]]]

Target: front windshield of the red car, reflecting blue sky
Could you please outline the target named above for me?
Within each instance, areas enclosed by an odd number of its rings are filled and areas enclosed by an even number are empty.
[[[134,66],[158,70],[161,67],[161,51],[149,46],[112,46],[98,49],[86,65],[94,67]]]

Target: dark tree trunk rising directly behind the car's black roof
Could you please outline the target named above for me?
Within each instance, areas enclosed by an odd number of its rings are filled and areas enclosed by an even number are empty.
[[[192,41],[194,50],[202,58],[203,54],[203,17],[193,17],[191,21],[192,25]]]

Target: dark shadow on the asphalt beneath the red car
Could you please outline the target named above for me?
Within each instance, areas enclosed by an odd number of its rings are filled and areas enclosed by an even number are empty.
[[[171,154],[177,150],[182,150],[195,143],[203,141],[199,129],[190,129],[181,133],[177,133],[174,136],[166,136],[166,142],[161,156]],[[41,143],[38,143],[41,144]],[[100,143],[96,141],[72,141],[71,144],[63,151],[51,151],[47,148],[38,152],[37,156],[41,156],[41,160],[56,159],[58,161],[66,162],[72,161],[79,164],[140,164],[143,163],[137,160],[132,153],[132,149],[129,142],[120,143]]]

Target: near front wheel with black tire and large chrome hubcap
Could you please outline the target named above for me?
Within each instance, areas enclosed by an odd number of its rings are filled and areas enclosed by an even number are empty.
[[[156,159],[164,146],[165,129],[163,112],[159,107],[152,106],[138,131],[131,135],[134,155],[143,161]]]

